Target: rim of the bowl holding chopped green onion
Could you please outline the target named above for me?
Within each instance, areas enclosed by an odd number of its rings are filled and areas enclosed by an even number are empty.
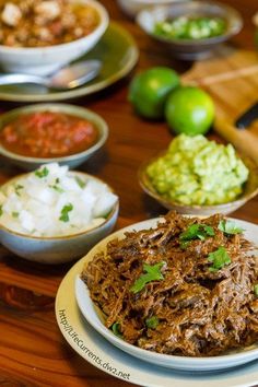
[[[168,38],[168,37],[164,37],[164,36],[160,36],[156,35],[153,31],[148,31],[145,28],[145,26],[143,25],[141,19],[145,13],[149,13],[151,15],[153,15],[157,10],[162,9],[162,10],[168,10],[168,9],[173,9],[173,8],[180,8],[183,9],[183,11],[180,12],[181,14],[184,14],[184,9],[187,10],[187,7],[192,7],[196,5],[197,8],[200,8],[200,10],[203,7],[213,7],[216,9],[221,9],[225,12],[224,19],[227,22],[226,25],[226,30],[222,35],[218,35],[218,36],[213,36],[213,37],[207,37],[207,38],[199,38],[199,39],[179,39],[179,38]],[[200,13],[204,13],[204,12],[200,12]],[[233,7],[222,3],[220,1],[213,1],[213,0],[204,0],[204,1],[200,1],[200,0],[194,0],[194,1],[183,1],[181,3],[179,2],[174,2],[174,3],[168,3],[168,4],[157,4],[154,7],[148,7],[142,9],[141,11],[139,11],[137,13],[137,23],[138,25],[151,37],[166,43],[166,44],[171,44],[174,46],[181,46],[181,47],[189,47],[189,46],[206,46],[206,45],[212,45],[212,44],[219,44],[224,42],[225,39],[236,35],[243,27],[243,17],[241,15],[241,13]],[[232,27],[228,28],[228,21],[233,22],[232,23]],[[233,25],[234,24],[234,25]]]

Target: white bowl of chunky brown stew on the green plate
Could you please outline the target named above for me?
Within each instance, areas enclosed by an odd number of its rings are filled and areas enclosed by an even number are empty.
[[[95,0],[0,2],[1,68],[46,75],[92,49],[108,25]]]

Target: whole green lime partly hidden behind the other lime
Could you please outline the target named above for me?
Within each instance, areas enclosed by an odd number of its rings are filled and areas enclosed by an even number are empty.
[[[168,94],[179,85],[178,74],[166,67],[154,67],[137,74],[129,86],[129,101],[146,118],[164,117]]]

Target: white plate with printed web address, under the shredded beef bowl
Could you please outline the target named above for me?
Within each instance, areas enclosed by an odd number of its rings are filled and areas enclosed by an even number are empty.
[[[148,221],[149,222],[149,221]],[[146,225],[142,222],[138,225]],[[246,230],[246,237],[257,242],[257,226],[237,221]],[[133,228],[137,228],[133,226]],[[113,237],[110,235],[108,238]],[[56,298],[56,316],[69,344],[86,361],[120,379],[148,387],[247,387],[258,384],[258,362],[253,361],[223,372],[187,373],[150,365],[112,345],[98,335],[80,313],[75,294],[75,279],[81,273],[85,257],[77,262],[63,279]],[[69,294],[69,297],[68,297]]]

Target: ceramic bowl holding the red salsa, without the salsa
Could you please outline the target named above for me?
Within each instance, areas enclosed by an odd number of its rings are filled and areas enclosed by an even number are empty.
[[[97,141],[85,151],[71,154],[68,156],[57,156],[57,157],[32,157],[21,155],[14,152],[9,151],[0,143],[0,156],[27,171],[36,169],[43,164],[46,163],[59,163],[60,165],[69,165],[70,168],[84,163],[89,157],[91,157],[99,148],[104,145],[108,137],[108,127],[104,119],[97,114],[85,109],[84,107],[69,105],[69,104],[36,104],[30,106],[19,107],[16,109],[10,110],[0,116],[0,131],[4,128],[5,125],[11,122],[13,119],[17,118],[23,114],[31,114],[36,112],[56,112],[63,113],[71,116],[80,117],[92,122],[98,131]]]

